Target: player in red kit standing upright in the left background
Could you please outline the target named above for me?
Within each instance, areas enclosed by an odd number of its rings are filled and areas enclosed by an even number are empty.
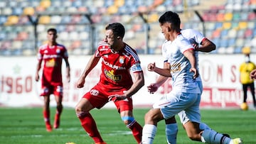
[[[36,67],[36,82],[39,80],[39,71],[41,70],[41,64],[43,65],[43,74],[41,77],[41,96],[44,98],[43,105],[43,118],[46,122],[46,130],[52,131],[50,125],[50,94],[55,95],[55,101],[57,103],[57,110],[55,113],[54,128],[60,126],[60,113],[63,111],[62,99],[63,99],[63,81],[61,65],[62,60],[65,60],[66,76],[68,82],[70,82],[70,65],[68,62],[68,51],[65,46],[56,42],[57,31],[55,28],[50,28],[47,31],[48,43],[41,45],[38,49],[38,64]]]

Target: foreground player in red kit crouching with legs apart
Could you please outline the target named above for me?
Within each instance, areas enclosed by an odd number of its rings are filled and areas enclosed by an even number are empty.
[[[90,110],[114,101],[122,121],[131,129],[137,143],[142,140],[142,126],[135,120],[132,95],[144,86],[144,75],[137,52],[123,42],[125,29],[121,23],[111,23],[105,28],[105,40],[99,43],[94,55],[78,79],[77,87],[85,84],[87,74],[102,60],[100,81],[87,92],[75,108],[82,127],[97,144],[105,144],[97,130]],[[132,75],[134,76],[134,82]]]

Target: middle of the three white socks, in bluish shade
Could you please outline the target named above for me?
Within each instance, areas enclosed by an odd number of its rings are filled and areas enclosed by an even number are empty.
[[[166,140],[168,144],[176,144],[178,134],[177,123],[166,124]]]

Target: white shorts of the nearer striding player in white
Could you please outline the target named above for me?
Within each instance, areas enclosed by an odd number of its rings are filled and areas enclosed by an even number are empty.
[[[153,108],[160,109],[165,119],[171,118],[181,112],[179,114],[181,123],[186,123],[187,121],[200,123],[200,100],[201,94],[171,91],[169,94],[161,97],[153,105]]]

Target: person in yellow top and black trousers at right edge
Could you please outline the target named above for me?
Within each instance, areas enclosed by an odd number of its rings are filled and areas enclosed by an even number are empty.
[[[251,76],[251,72],[252,70],[256,69],[256,65],[255,63],[250,61],[250,49],[243,48],[242,51],[245,54],[245,62],[242,62],[242,64],[240,65],[239,72],[240,72],[240,82],[242,84],[242,91],[243,91],[243,102],[246,103],[247,101],[247,89],[249,87],[250,92],[252,93],[253,106],[256,108],[255,84],[254,84],[254,79]]]

